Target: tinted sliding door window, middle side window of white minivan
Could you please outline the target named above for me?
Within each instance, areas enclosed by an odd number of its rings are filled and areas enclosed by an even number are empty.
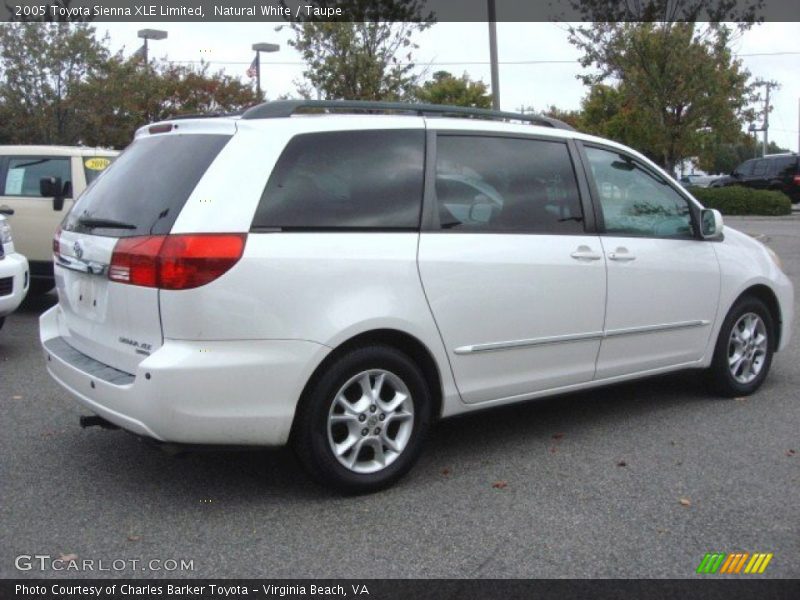
[[[436,200],[446,230],[583,233],[578,184],[563,142],[441,135]]]

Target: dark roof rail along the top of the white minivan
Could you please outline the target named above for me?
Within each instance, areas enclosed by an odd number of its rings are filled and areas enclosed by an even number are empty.
[[[556,129],[575,129],[563,121],[541,115],[524,115],[521,113],[503,112],[485,108],[467,106],[447,106],[443,104],[412,104],[410,102],[365,102],[361,100],[277,100],[264,102],[247,109],[242,119],[279,119],[291,117],[301,109],[316,111],[368,111],[368,112],[404,112],[421,117],[456,116],[500,121],[525,121],[533,125],[554,127]]]

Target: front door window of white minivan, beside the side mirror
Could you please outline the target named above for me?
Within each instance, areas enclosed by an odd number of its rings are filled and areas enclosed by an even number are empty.
[[[624,154],[586,148],[607,233],[693,237],[689,201]]]

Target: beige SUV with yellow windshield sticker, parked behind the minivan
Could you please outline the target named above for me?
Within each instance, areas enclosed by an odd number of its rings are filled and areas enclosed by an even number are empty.
[[[81,146],[0,146],[0,214],[30,261],[32,294],[55,285],[53,234],[73,200],[118,154]]]

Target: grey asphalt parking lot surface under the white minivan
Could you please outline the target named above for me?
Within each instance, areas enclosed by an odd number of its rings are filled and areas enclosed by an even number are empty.
[[[800,216],[727,222],[765,236],[800,291]],[[80,429],[39,351],[54,302],[0,331],[0,577],[682,578],[740,551],[800,577],[797,333],[755,396],[681,373],[460,417],[396,487],[342,498],[286,450],[172,457]],[[34,554],[141,563],[15,568]],[[169,559],[194,569],[142,570]]]

